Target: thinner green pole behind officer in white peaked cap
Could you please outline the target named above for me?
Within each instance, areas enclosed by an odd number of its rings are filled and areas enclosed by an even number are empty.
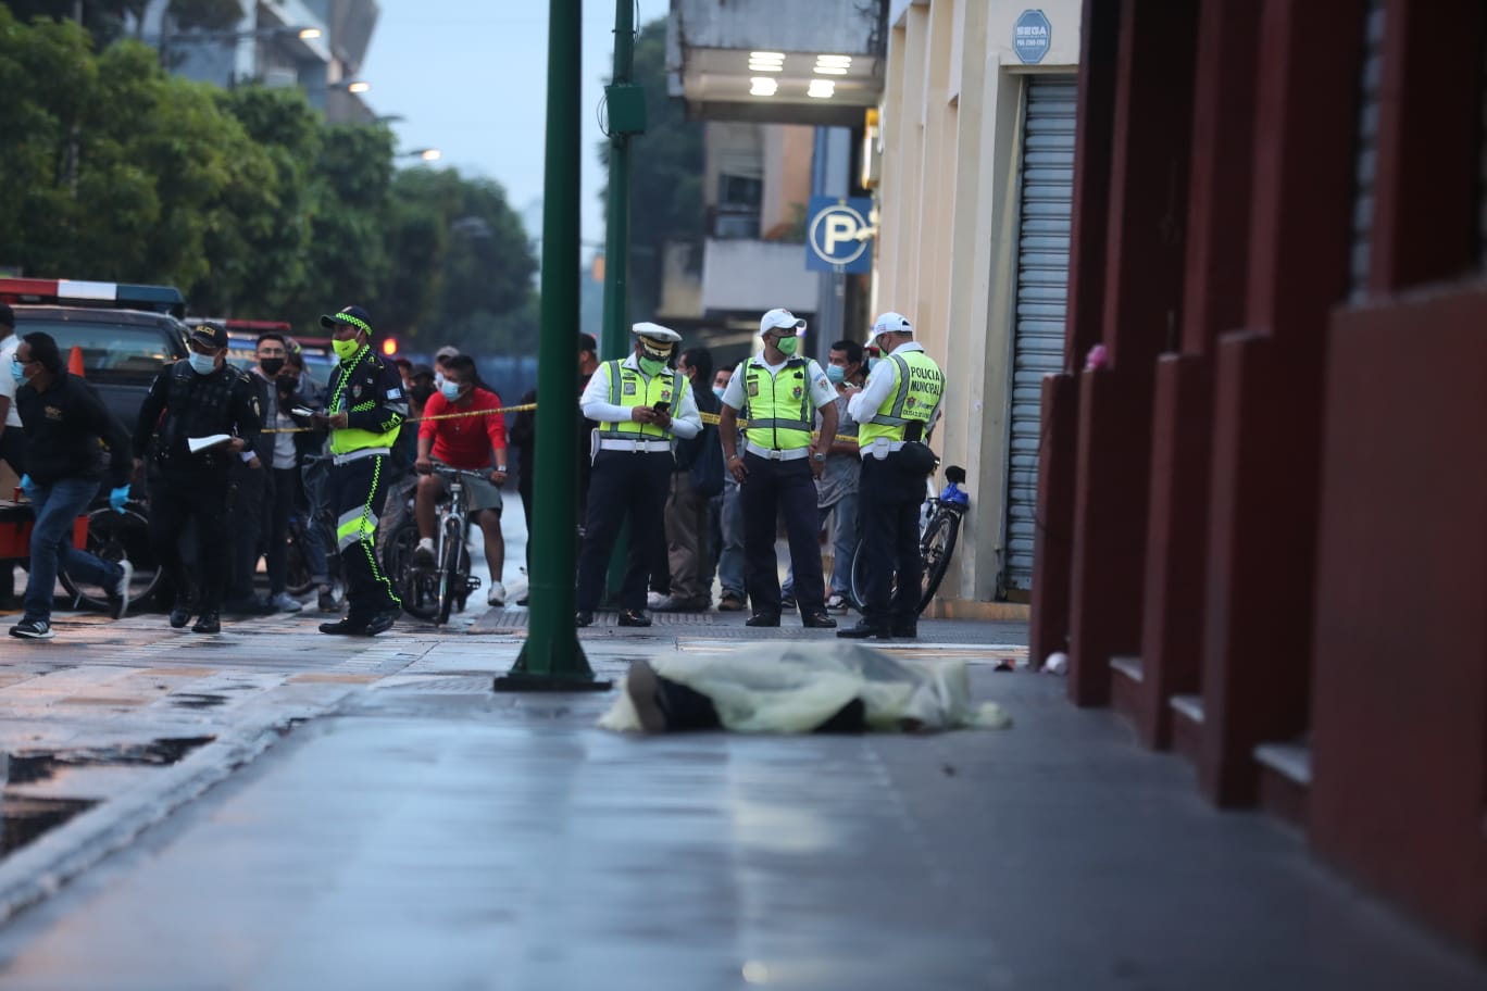
[[[635,0],[614,0],[614,79],[610,89],[628,86],[635,76]],[[604,232],[604,327],[599,357],[623,358],[630,352],[630,134],[610,114],[610,189]],[[583,513],[586,507],[578,507]],[[630,527],[626,524],[610,551],[604,590],[619,599],[629,560]]]

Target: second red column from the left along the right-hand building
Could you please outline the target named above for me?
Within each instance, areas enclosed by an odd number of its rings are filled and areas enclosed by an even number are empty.
[[[1102,342],[1081,374],[1069,697],[1109,701],[1109,660],[1141,646],[1152,379],[1182,319],[1193,123],[1193,4],[1121,10]]]

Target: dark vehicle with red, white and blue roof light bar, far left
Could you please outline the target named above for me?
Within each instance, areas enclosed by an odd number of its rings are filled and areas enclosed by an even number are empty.
[[[0,278],[0,302],[18,336],[51,334],[64,361],[82,352],[83,377],[131,434],[150,382],[187,354],[186,302],[168,285]]]

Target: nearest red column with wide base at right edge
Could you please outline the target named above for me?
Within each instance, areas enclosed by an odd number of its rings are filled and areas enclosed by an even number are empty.
[[[1475,0],[1384,18],[1373,299],[1328,352],[1309,831],[1487,952],[1487,19]]]

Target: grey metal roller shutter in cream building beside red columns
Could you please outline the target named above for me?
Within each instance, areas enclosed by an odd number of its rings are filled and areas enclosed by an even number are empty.
[[[1042,377],[1063,368],[1077,97],[1074,76],[1028,77],[1002,574],[1007,590],[1032,588]]]

